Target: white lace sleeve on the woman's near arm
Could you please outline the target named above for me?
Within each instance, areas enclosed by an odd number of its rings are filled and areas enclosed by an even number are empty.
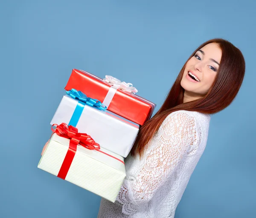
[[[122,204],[122,213],[133,214],[151,200],[192,147],[195,136],[193,116],[185,111],[176,111],[167,116],[154,139],[156,146],[147,152],[146,160],[139,167],[134,180],[124,180],[116,198]]]

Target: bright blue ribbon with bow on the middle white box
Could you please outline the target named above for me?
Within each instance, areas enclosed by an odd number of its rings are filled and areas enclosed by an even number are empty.
[[[76,127],[76,125],[80,119],[80,116],[83,113],[85,105],[89,105],[89,106],[91,106],[93,108],[97,108],[99,110],[107,109],[107,107],[105,105],[103,105],[102,102],[100,102],[99,100],[91,99],[91,98],[87,97],[84,93],[82,93],[81,91],[77,91],[76,89],[71,89],[70,91],[67,91],[66,93],[73,99],[79,100],[68,125],[72,125],[72,126]]]

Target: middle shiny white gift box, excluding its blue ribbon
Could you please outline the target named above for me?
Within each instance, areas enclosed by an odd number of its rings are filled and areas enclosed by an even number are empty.
[[[78,105],[78,100],[63,96],[51,125],[69,124]],[[127,157],[136,140],[139,125],[108,110],[84,106],[76,128],[80,133],[89,134],[102,148]]]

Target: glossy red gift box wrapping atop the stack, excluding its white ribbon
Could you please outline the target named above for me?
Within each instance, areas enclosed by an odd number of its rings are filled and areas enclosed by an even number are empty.
[[[73,88],[83,92],[90,98],[104,102],[111,85],[107,84],[102,78],[88,72],[73,69],[65,90],[69,91]],[[111,91],[113,92],[113,88]],[[108,110],[132,122],[143,125],[145,121],[150,119],[155,106],[154,103],[140,96],[117,89],[108,105]]]

